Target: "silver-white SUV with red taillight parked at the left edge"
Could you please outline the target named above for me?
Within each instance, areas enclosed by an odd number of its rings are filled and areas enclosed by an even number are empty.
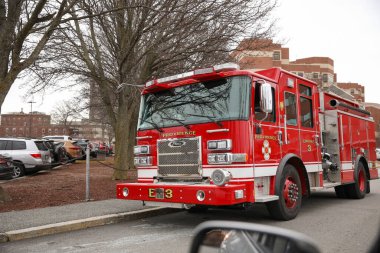
[[[13,159],[13,178],[51,167],[51,153],[44,140],[0,138],[0,154]]]

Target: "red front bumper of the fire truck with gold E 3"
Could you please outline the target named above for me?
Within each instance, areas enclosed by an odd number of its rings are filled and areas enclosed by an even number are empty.
[[[128,188],[128,196],[123,189]],[[197,199],[197,192],[205,194],[204,200]],[[228,184],[225,186],[206,184],[153,184],[123,183],[117,184],[118,199],[142,200],[166,203],[226,206],[253,202],[253,184]]]

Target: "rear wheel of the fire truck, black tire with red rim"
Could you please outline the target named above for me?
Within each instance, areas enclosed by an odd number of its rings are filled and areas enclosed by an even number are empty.
[[[359,162],[355,170],[355,183],[347,185],[347,195],[352,199],[362,199],[368,191],[368,177],[362,162]]]

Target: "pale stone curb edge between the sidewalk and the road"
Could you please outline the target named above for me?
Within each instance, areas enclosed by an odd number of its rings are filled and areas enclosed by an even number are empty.
[[[63,232],[81,230],[85,228],[103,226],[107,224],[119,223],[122,221],[131,221],[147,218],[156,215],[163,215],[178,212],[178,209],[155,207],[147,210],[139,210],[118,214],[109,214],[96,216],[86,219],[59,222],[38,227],[26,228],[0,233],[0,243],[18,241],[28,238],[40,237],[45,235],[53,235]]]

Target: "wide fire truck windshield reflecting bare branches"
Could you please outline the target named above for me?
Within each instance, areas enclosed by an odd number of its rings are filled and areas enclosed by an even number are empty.
[[[234,76],[143,96],[139,130],[249,117],[251,78]]]

